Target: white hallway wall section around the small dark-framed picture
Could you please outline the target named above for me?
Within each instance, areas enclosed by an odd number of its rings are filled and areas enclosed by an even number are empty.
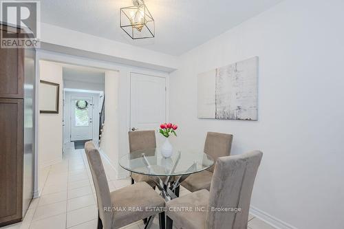
[[[63,79],[62,67],[56,63],[39,61],[39,76],[60,85],[58,113],[39,113],[38,155],[39,167],[49,166],[62,160]],[[39,104],[43,94],[39,94]]]

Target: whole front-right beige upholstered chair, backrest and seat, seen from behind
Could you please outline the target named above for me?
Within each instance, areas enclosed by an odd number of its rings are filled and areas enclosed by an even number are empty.
[[[210,192],[198,190],[166,202],[167,229],[172,228],[172,223],[178,229],[246,229],[252,188],[262,156],[261,151],[251,151],[219,157]],[[173,211],[176,207],[198,208]]]

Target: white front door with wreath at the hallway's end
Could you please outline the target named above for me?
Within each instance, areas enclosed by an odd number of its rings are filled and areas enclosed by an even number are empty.
[[[93,98],[72,96],[70,102],[70,140],[92,140]]]

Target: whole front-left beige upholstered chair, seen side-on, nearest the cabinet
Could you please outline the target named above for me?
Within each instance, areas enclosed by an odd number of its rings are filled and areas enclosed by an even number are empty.
[[[99,151],[91,141],[86,142],[85,152],[96,188],[98,228],[120,228],[157,214],[162,222],[160,229],[165,228],[165,201],[151,186],[138,182],[110,193]]]

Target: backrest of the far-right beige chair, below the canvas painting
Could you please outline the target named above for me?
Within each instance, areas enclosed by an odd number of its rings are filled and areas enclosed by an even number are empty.
[[[204,143],[204,153],[211,155],[214,162],[219,157],[225,157],[230,155],[230,149],[232,148],[233,135],[228,133],[206,133],[206,142]],[[208,171],[213,172],[215,166],[208,168]]]

